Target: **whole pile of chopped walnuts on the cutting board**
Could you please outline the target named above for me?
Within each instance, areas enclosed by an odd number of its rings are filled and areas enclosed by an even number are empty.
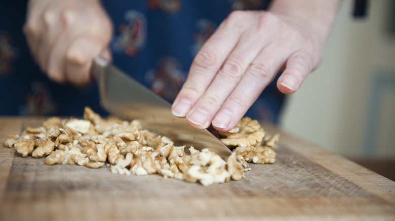
[[[186,154],[185,146],[176,146],[169,138],[144,130],[139,121],[103,119],[86,107],[84,119],[49,118],[42,127],[27,127],[21,136],[10,136],[5,145],[14,146],[23,157],[46,156],[48,165],[108,165],[116,174],[160,174],[204,186],[243,179],[247,162],[275,160],[279,135],[268,136],[255,120],[243,118],[234,129],[217,134],[224,144],[234,148],[227,161],[207,148],[199,151],[190,146]]]

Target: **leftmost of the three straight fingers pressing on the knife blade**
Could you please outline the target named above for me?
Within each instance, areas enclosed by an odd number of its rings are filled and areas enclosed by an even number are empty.
[[[190,67],[188,77],[174,100],[172,113],[177,117],[185,117],[192,105],[210,85],[215,74],[222,66],[228,54],[238,42],[240,30],[226,25],[206,41],[196,54]]]

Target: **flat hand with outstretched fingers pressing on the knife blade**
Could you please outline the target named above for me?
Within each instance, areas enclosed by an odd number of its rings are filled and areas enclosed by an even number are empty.
[[[196,54],[173,115],[186,117],[194,128],[212,123],[229,131],[282,67],[279,90],[289,94],[300,87],[321,61],[333,19],[322,28],[321,20],[274,9],[235,11],[221,23]]]

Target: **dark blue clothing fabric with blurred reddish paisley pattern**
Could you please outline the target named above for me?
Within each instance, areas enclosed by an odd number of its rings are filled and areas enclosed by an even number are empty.
[[[264,10],[259,0],[103,0],[113,22],[110,49],[121,70],[172,102],[203,43],[233,10]],[[106,116],[95,82],[57,84],[35,65],[22,33],[26,1],[0,3],[0,115],[82,116],[85,106]],[[277,76],[278,77],[278,76]],[[246,116],[279,122],[284,94],[268,85]]]

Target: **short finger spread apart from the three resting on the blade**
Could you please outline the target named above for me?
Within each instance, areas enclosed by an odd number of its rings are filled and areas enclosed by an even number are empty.
[[[282,93],[294,93],[302,85],[311,72],[313,60],[303,51],[297,51],[287,61],[286,69],[277,81],[277,87]]]

